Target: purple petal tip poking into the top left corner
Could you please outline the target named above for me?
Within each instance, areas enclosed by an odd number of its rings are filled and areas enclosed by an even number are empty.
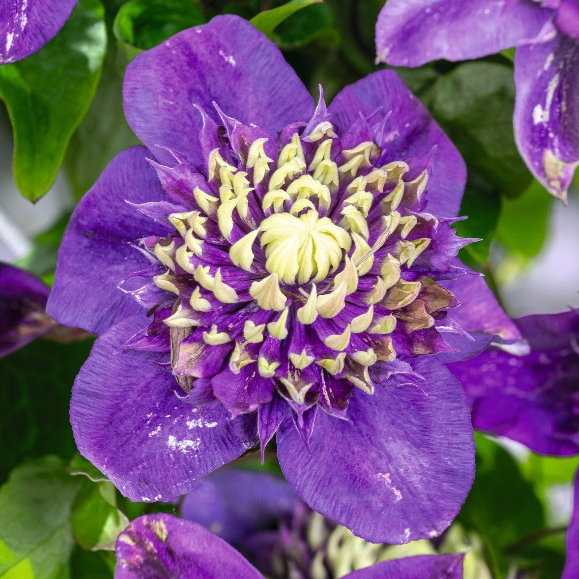
[[[56,36],[77,0],[2,0],[0,64],[30,56]]]

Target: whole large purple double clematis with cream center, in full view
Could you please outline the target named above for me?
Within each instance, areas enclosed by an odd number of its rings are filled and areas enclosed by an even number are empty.
[[[131,500],[169,500],[277,432],[323,515],[371,541],[441,533],[474,445],[434,354],[520,338],[455,257],[448,138],[391,71],[314,110],[234,16],[135,58],[124,109],[148,149],[80,201],[47,306],[101,334],[72,393],[80,452]]]

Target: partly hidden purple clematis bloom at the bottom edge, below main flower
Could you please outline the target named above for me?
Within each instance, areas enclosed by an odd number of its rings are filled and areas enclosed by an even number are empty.
[[[355,537],[307,508],[287,483],[263,472],[216,472],[188,494],[183,515],[185,521],[172,515],[133,521],[116,543],[115,577],[463,576],[463,555],[391,559],[390,545]]]

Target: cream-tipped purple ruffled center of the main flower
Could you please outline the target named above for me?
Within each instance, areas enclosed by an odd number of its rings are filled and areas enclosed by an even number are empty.
[[[177,295],[160,318],[174,375],[185,390],[211,379],[234,411],[254,411],[275,389],[342,416],[352,387],[371,394],[369,369],[378,364],[383,382],[398,349],[444,347],[435,320],[456,301],[423,256],[441,225],[424,212],[427,161],[409,179],[408,164],[380,164],[375,142],[357,131],[338,138],[328,121],[301,134],[287,127],[280,144],[225,124],[206,175],[170,170],[171,187],[188,185],[186,210],[168,215],[173,234],[144,240],[166,267],[155,284]],[[233,401],[231,374],[247,384]]]

